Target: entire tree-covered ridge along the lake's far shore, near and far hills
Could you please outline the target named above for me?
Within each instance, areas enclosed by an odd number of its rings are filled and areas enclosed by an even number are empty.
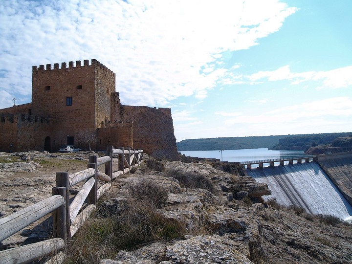
[[[240,150],[269,148],[271,150],[303,150],[310,147],[332,144],[336,138],[351,136],[352,132],[300,134],[300,135],[271,135],[246,137],[216,137],[185,139],[176,143],[178,151],[200,150]],[[336,141],[340,142],[340,141]],[[337,144],[337,143],[334,144]]]

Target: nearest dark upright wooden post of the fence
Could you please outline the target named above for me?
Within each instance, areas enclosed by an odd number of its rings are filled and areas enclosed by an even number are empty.
[[[54,187],[52,188],[53,195],[61,195],[66,198],[65,187]],[[52,212],[53,216],[53,229],[54,238],[62,238],[64,241],[67,240],[67,229],[66,229],[66,202],[59,208]]]

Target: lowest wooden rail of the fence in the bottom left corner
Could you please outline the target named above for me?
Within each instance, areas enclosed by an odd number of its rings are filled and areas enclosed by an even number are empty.
[[[28,263],[65,247],[61,238],[44,240],[20,247],[0,251],[1,264]]]

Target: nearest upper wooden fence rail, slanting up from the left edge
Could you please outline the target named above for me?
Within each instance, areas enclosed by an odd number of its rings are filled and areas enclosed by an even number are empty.
[[[0,219],[0,241],[12,236],[27,225],[41,219],[46,214],[65,203],[61,195],[54,195]]]

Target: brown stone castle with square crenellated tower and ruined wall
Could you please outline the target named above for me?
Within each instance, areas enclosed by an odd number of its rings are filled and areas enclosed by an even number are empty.
[[[112,145],[177,155],[171,109],[121,105],[115,73],[97,60],[32,71],[32,102],[0,110],[0,151],[88,149],[91,141],[95,150]]]

